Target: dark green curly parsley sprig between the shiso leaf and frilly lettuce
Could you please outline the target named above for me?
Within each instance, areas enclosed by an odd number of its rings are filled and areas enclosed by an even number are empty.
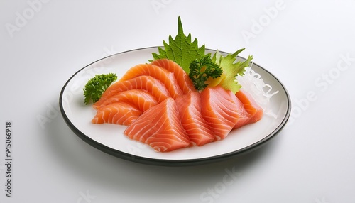
[[[207,87],[207,79],[209,77],[217,78],[221,76],[223,70],[216,63],[212,62],[209,55],[204,56],[200,60],[193,60],[190,63],[189,77],[192,80],[197,91],[202,91]]]

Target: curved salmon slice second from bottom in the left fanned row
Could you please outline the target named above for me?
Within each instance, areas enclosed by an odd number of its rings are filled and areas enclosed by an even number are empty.
[[[149,92],[143,89],[130,89],[116,94],[102,103],[102,106],[116,103],[119,101],[132,104],[140,111],[144,112],[158,104],[158,100]]]

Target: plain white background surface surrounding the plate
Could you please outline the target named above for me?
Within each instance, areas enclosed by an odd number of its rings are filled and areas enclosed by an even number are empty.
[[[0,202],[355,202],[354,11],[351,0],[1,0]],[[75,136],[58,111],[67,79],[162,45],[178,16],[200,45],[246,48],[241,56],[278,77],[293,101],[288,126],[259,150],[180,168],[121,160]]]

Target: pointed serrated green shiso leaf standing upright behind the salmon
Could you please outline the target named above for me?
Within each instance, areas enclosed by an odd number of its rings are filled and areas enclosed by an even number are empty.
[[[204,45],[198,47],[197,39],[192,42],[191,34],[185,35],[182,30],[180,16],[178,17],[178,35],[175,39],[169,35],[169,43],[163,41],[164,48],[158,48],[157,53],[152,53],[154,60],[167,58],[178,63],[187,74],[190,72],[190,63],[192,60],[204,57]]]

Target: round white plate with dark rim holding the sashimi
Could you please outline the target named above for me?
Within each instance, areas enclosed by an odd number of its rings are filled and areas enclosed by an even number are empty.
[[[97,74],[114,72],[120,78],[129,68],[146,63],[157,53],[158,47],[129,50],[104,57],[75,72],[60,92],[60,112],[72,131],[89,145],[136,163],[150,165],[197,165],[232,158],[249,152],[270,141],[285,126],[290,116],[290,97],[281,82],[263,67],[253,63],[253,70],[261,75],[278,94],[271,97],[270,109],[273,116],[264,115],[255,124],[249,124],[231,131],[222,141],[208,143],[201,147],[190,147],[168,153],[158,153],[150,146],[133,141],[124,135],[126,126],[114,124],[92,124],[96,110],[84,104],[83,89],[87,81]],[[207,50],[214,52],[214,50]],[[222,54],[226,54],[220,52]],[[245,60],[239,57],[240,60]]]

